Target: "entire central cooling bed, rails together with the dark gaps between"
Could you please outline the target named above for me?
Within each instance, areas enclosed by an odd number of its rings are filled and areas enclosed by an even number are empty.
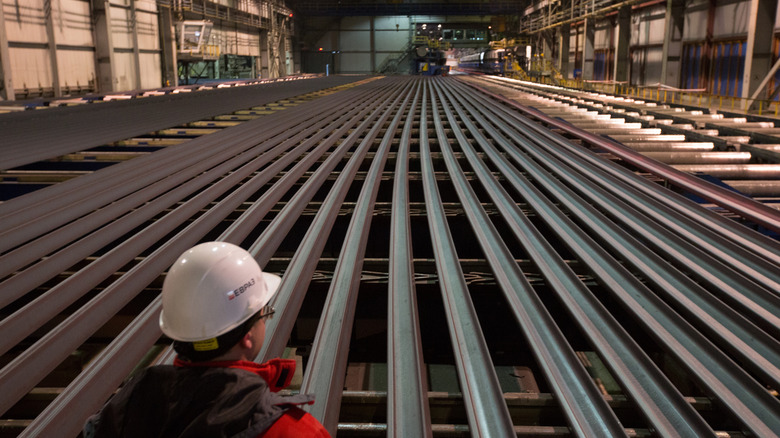
[[[283,273],[261,356],[339,436],[776,436],[780,214],[554,121],[381,78],[0,204],[0,421],[74,352],[20,436],[169,362],[162,276],[219,239]]]

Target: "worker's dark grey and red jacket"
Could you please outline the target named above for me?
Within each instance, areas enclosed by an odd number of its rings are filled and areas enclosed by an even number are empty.
[[[295,361],[273,359],[190,363],[150,367],[131,379],[87,421],[90,437],[257,437],[328,438],[325,428],[296,405],[306,395],[282,397]],[[250,435],[253,436],[253,435]]]

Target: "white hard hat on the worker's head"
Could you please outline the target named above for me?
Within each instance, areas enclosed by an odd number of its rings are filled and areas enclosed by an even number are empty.
[[[281,281],[239,246],[201,243],[182,254],[165,277],[160,328],[176,341],[216,338],[268,304]]]

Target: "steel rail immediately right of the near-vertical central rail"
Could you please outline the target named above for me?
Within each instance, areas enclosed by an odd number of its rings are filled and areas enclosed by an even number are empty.
[[[426,92],[426,99],[428,93]],[[460,390],[472,436],[515,436],[512,419],[504,401],[490,351],[469,296],[468,286],[458,262],[455,244],[444,215],[438,192],[428,139],[428,101],[423,100],[420,119],[420,159],[428,228],[430,229],[439,288],[447,318],[450,342],[455,356]],[[440,146],[448,140],[438,116],[437,101],[430,95],[433,123]],[[453,129],[455,127],[452,127]]]

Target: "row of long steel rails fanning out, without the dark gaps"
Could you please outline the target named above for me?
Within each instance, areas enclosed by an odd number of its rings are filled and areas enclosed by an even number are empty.
[[[600,158],[524,112],[556,123],[456,78],[384,78],[0,204],[0,307],[39,293],[42,284],[100,252],[0,321],[3,353],[132,266],[0,369],[0,412],[24,397],[185,249],[207,236],[242,244],[272,208],[283,205],[247,246],[261,266],[267,265],[295,219],[336,172],[274,301],[280,315],[268,323],[260,359],[279,356],[326,244],[323,236],[331,233],[348,191],[359,183],[358,172],[370,166],[301,391],[315,394],[318,402],[311,412],[335,432],[374,204],[383,174],[392,173],[387,435],[430,435],[409,219],[410,155],[419,144],[427,222],[472,435],[515,436],[519,425],[512,423],[464,280],[442,205],[443,184],[457,193],[475,244],[520,327],[512,335],[529,345],[572,435],[627,432],[578,360],[559,318],[521,271],[508,239],[520,244],[562,303],[567,320],[576,323],[649,429],[660,436],[714,434],[632,336],[637,329],[683,366],[741,432],[777,436],[780,401],[770,389],[780,389],[780,244]],[[625,152],[597,136],[570,135]],[[444,168],[431,158],[437,153],[444,157]],[[387,168],[391,155],[394,169]],[[767,227],[780,223],[776,213],[626,155],[746,213],[749,220]],[[448,182],[441,181],[441,173]],[[488,199],[475,191],[477,182]],[[220,227],[258,192],[238,219]],[[288,193],[291,197],[278,204]],[[520,202],[544,223],[544,231],[519,209]],[[495,205],[510,235],[502,235],[488,217],[486,203]],[[117,243],[130,232],[132,237]],[[563,242],[587,267],[598,294],[551,241]],[[139,255],[140,261],[134,261]],[[605,301],[617,303],[621,314]],[[76,435],[159,340],[159,311],[156,299],[22,436]],[[167,351],[158,363],[171,357]]]

